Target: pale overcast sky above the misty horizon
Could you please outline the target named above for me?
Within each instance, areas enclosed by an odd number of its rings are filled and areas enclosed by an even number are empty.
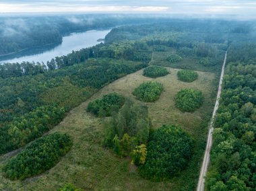
[[[0,13],[115,12],[256,14],[256,0],[0,0]]]

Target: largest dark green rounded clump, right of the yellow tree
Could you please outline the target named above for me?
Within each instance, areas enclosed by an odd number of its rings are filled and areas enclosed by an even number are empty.
[[[150,134],[146,163],[139,167],[139,174],[154,181],[177,176],[192,151],[193,139],[180,126],[162,126]]]

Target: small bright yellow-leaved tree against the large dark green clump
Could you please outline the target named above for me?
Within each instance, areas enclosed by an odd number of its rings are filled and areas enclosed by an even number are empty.
[[[136,146],[131,152],[131,163],[135,165],[143,165],[146,162],[147,147],[144,144]]]

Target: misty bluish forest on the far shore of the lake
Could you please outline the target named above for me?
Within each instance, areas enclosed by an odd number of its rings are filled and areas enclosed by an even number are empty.
[[[162,18],[163,19],[163,18]],[[1,56],[49,44],[61,44],[62,37],[71,32],[110,28],[124,24],[154,23],[143,16],[129,15],[35,15],[13,16],[1,15],[0,20],[0,60]],[[51,58],[49,58],[51,59]]]

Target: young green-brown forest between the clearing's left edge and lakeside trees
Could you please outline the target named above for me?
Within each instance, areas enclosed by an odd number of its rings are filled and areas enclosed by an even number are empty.
[[[0,78],[0,153],[18,149],[42,136],[63,119],[65,112],[104,85],[141,67],[146,65],[89,59],[39,75]],[[104,115],[104,110],[101,114]]]

